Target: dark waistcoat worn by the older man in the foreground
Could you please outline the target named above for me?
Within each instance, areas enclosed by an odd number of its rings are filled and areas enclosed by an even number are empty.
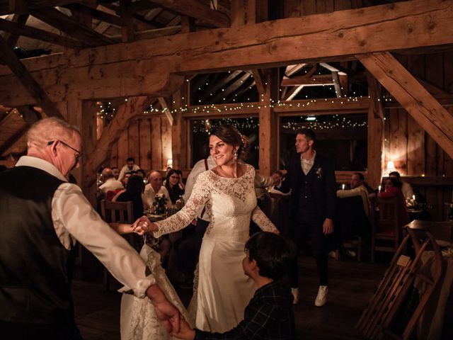
[[[73,318],[70,251],[51,215],[62,183],[30,166],[0,173],[0,320],[52,324]]]

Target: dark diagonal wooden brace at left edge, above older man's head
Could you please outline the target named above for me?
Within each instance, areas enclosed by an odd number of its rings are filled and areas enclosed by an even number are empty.
[[[64,119],[62,114],[59,113],[58,109],[55,107],[55,104],[52,103],[45,91],[41,88],[40,84],[35,81],[30,72],[28,72],[28,69],[23,66],[21,60],[16,57],[14,51],[8,46],[4,38],[1,38],[1,35],[0,57],[4,60],[4,62],[6,62],[19,81],[21,81],[21,84],[25,87],[28,93],[36,99],[40,106],[42,106],[47,115]]]

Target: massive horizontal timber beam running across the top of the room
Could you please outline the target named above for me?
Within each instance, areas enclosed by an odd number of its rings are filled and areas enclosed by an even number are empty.
[[[413,0],[178,34],[84,50],[70,55],[70,62],[67,56],[41,57],[40,62],[30,62],[28,69],[36,71],[37,78],[45,79],[55,101],[72,95],[79,98],[155,95],[145,83],[155,82],[155,77],[168,78],[167,72],[194,74],[253,69],[304,60],[344,60],[357,53],[453,44],[453,6],[449,6],[452,3],[452,0]],[[427,22],[434,24],[427,26]],[[389,35],[378,34],[382,31],[391,32],[391,39]],[[315,45],[319,48],[311,48]],[[46,64],[62,66],[50,69],[43,66]],[[2,74],[8,75],[0,67],[0,77]],[[7,77],[0,78],[0,102],[28,104],[30,98],[15,85]]]

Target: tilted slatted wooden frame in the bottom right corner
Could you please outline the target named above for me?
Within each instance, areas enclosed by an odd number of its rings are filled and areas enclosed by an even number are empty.
[[[404,228],[406,237],[398,246],[390,267],[357,322],[356,328],[367,339],[413,339],[418,319],[441,282],[445,265],[430,229],[412,224]],[[408,242],[415,251],[412,256],[403,254]],[[431,250],[433,259],[428,273],[420,266],[422,255],[427,250]],[[408,297],[420,283],[425,285],[425,290],[418,291],[418,302],[411,302],[412,308],[407,308]]]

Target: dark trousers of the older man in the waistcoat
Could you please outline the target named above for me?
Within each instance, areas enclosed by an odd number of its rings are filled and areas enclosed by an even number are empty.
[[[22,324],[0,321],[0,339],[2,340],[81,340],[75,322],[58,324]]]

